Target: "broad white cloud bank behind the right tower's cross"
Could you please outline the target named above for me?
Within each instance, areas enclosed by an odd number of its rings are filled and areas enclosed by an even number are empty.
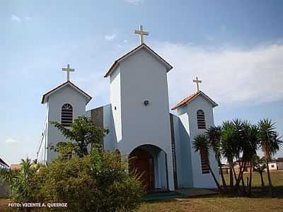
[[[168,73],[171,105],[195,92],[195,76],[203,82],[200,89],[219,103],[283,100],[282,44],[209,50],[165,43],[155,49],[174,66]]]

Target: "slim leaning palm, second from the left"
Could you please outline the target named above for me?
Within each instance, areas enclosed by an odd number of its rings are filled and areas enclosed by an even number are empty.
[[[215,159],[218,163],[220,169],[220,175],[222,184],[224,187],[224,191],[227,192],[226,182],[223,175],[222,170],[222,163],[221,163],[221,153],[220,153],[220,146],[221,146],[221,126],[210,126],[209,129],[205,132],[207,139],[209,140],[209,145],[212,147],[212,150],[215,154]]]

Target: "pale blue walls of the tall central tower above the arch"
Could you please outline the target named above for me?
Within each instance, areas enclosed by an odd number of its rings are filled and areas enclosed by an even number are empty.
[[[110,100],[117,147],[124,154],[143,144],[152,144],[165,151],[169,188],[173,190],[166,67],[145,49],[140,49],[111,74]],[[147,107],[144,100],[149,100]]]

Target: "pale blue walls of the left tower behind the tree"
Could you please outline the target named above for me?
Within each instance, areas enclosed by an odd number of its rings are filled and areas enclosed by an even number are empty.
[[[59,141],[66,141],[64,136],[50,122],[61,123],[61,110],[65,103],[73,106],[73,119],[86,113],[86,98],[71,86],[65,86],[50,95],[47,103],[47,146],[53,145]],[[57,153],[47,150],[47,161],[57,158]]]

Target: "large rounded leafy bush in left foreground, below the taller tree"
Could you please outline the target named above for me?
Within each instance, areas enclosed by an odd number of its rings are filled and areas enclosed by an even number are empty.
[[[68,211],[134,211],[144,190],[115,153],[54,160],[34,176],[35,199],[68,203]]]

